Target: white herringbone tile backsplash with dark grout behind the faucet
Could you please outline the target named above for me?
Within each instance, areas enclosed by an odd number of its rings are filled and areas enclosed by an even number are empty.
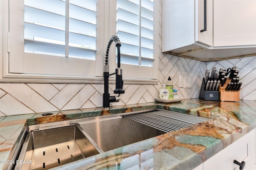
[[[182,97],[198,98],[204,72],[213,66],[217,70],[236,66],[243,82],[240,99],[256,100],[256,57],[206,63],[162,54],[158,64],[158,85],[124,84],[125,94],[112,106],[154,102],[168,76]],[[192,88],[179,88],[179,76],[190,77]],[[112,92],[115,85],[109,88]],[[102,93],[103,84],[0,83],[0,116],[102,107]]]

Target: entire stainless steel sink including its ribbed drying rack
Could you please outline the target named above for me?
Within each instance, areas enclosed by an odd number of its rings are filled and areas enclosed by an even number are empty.
[[[152,109],[32,125],[15,170],[46,170],[209,119]]]

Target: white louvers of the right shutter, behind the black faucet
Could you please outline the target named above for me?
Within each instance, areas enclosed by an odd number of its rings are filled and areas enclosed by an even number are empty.
[[[116,35],[122,43],[121,63],[152,66],[154,5],[152,0],[117,0]]]

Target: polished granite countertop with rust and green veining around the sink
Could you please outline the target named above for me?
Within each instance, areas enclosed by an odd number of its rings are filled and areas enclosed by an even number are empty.
[[[138,143],[78,160],[55,169],[193,169],[256,128],[256,101],[204,101],[148,103],[101,108],[0,117],[0,160],[11,160],[27,125],[159,108],[197,115],[211,120],[165,133]],[[8,165],[0,164],[0,170]]]

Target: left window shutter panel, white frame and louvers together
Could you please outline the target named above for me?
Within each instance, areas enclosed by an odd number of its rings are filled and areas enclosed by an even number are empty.
[[[100,79],[103,68],[96,63],[103,61],[99,49],[104,40],[97,36],[103,37],[98,24],[103,25],[104,15],[97,11],[104,2],[10,0],[9,6],[10,73],[79,82]]]

